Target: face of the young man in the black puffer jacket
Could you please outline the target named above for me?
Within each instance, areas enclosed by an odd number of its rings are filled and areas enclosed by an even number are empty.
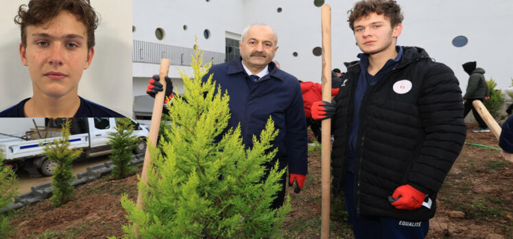
[[[363,53],[372,55],[385,50],[395,49],[396,37],[401,34],[403,25],[398,23],[392,28],[390,19],[374,12],[358,19],[354,23],[355,38]]]

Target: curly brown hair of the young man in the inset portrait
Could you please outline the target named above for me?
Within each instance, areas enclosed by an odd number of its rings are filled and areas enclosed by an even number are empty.
[[[91,7],[89,0],[31,0],[27,5],[19,7],[14,22],[21,28],[21,44],[27,47],[27,26],[40,25],[50,21],[60,12],[67,11],[84,23],[87,32],[87,48],[95,46],[95,30],[98,27],[99,17]]]

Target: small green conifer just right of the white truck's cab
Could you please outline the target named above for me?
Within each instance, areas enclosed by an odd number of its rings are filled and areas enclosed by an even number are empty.
[[[112,168],[112,177],[115,179],[123,179],[134,172],[134,168],[130,166],[130,160],[134,155],[132,150],[138,139],[132,133],[134,133],[134,125],[128,118],[118,118],[116,131],[108,133],[110,141],[107,144],[112,146],[110,160],[115,166]]]

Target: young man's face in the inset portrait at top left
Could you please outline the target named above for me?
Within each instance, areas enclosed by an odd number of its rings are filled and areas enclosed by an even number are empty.
[[[20,44],[23,65],[29,68],[34,95],[60,98],[76,94],[82,72],[91,65],[94,49],[87,49],[84,23],[75,15],[60,12],[41,25],[25,29],[27,47]]]

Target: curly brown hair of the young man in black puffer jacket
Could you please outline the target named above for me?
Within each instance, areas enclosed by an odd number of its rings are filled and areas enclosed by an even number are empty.
[[[401,13],[401,6],[393,0],[361,0],[355,3],[353,9],[348,11],[349,14],[349,27],[355,30],[355,21],[362,17],[368,16],[371,13],[378,15],[385,15],[385,18],[390,20],[390,25],[395,27],[397,24],[403,22],[403,14]]]

